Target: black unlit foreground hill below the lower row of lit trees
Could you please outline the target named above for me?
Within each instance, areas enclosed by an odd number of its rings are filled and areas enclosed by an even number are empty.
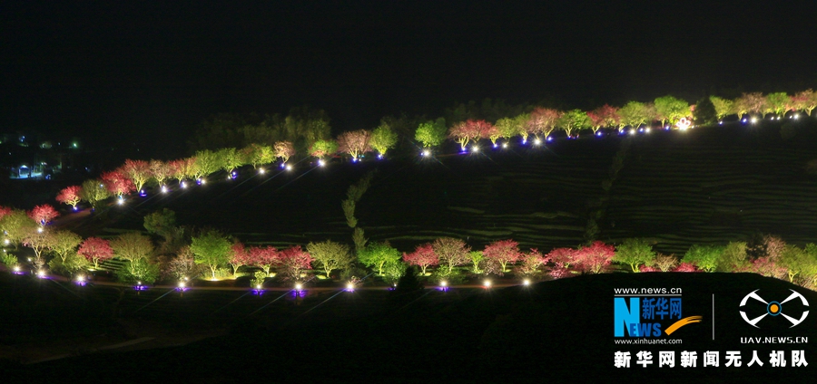
[[[680,296],[671,296],[681,299],[679,317],[701,316],[701,322],[671,336],[645,338],[680,344],[616,344],[637,339],[614,337],[616,288],[666,288],[676,294],[680,288]],[[782,312],[795,319],[809,307],[799,297],[785,302],[792,292],[817,303],[817,293],[754,274],[601,274],[505,289],[340,293],[326,302],[303,302],[299,311],[242,317],[232,322],[229,334],[182,347],[32,365],[6,362],[4,381],[813,382],[814,314],[794,327],[781,316],[766,316],[755,328],[740,314],[754,318],[766,311],[754,299],[741,306],[755,290],[765,302],[780,302]],[[192,313],[180,311],[182,317]],[[193,327],[198,318],[183,321]],[[799,343],[777,343],[785,341]],[[653,355],[646,368],[636,363],[642,350]],[[684,350],[697,353],[696,367],[681,367]],[[783,351],[785,367],[773,367],[773,350]],[[629,368],[615,368],[616,351],[630,352]],[[674,352],[674,367],[658,367],[661,351]],[[718,366],[704,366],[704,353],[713,351]],[[725,366],[727,351],[740,353],[740,367]],[[753,351],[763,367],[747,367]],[[808,365],[792,367],[792,353]]]

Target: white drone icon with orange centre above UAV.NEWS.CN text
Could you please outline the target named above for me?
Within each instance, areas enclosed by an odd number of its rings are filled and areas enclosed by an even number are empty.
[[[801,293],[790,289],[789,291],[792,291],[792,294],[783,299],[783,301],[766,301],[757,293],[758,291],[760,290],[756,289],[743,296],[740,305],[743,321],[748,322],[749,325],[752,325],[754,328],[761,328],[761,325],[765,326],[766,324],[771,325],[773,322],[780,322],[781,319],[785,319],[792,324],[789,328],[794,328],[809,316],[809,302]],[[752,299],[752,302],[750,302],[750,299]],[[796,299],[800,299],[800,301],[798,302]],[[786,310],[785,313],[783,312],[784,309]],[[747,312],[753,312],[753,317],[750,318]],[[766,316],[770,316],[770,320],[758,325]]]

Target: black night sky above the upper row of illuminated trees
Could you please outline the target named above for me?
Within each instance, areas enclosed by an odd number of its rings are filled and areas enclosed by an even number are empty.
[[[593,108],[817,88],[817,5],[745,1],[17,1],[0,130],[186,139],[310,104],[340,130],[454,101]]]

